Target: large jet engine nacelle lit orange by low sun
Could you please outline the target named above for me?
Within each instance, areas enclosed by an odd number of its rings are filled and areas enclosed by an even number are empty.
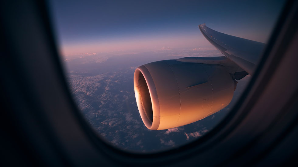
[[[137,106],[148,129],[196,122],[232,100],[235,82],[224,66],[178,60],[148,63],[134,72]]]

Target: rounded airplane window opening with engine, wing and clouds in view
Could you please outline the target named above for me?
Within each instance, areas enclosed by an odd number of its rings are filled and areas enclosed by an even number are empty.
[[[112,145],[152,152],[198,139],[227,115],[284,2],[48,3],[82,115]]]

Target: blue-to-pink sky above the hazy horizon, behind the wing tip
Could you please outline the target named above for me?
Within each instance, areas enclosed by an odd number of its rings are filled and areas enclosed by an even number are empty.
[[[84,53],[211,48],[198,25],[266,42],[284,1],[78,1],[49,7],[64,56]]]

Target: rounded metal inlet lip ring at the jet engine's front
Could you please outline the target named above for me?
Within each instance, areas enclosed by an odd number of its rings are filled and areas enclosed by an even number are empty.
[[[144,76],[148,86],[151,105],[152,105],[152,115],[153,115],[152,122],[150,119],[147,118],[140,99],[140,92],[139,92],[140,74]],[[157,130],[160,123],[160,109],[159,109],[158,95],[157,95],[157,91],[156,91],[152,76],[144,65],[138,67],[135,70],[134,77],[133,77],[133,84],[134,84],[134,92],[136,96],[137,106],[138,106],[142,121],[144,122],[144,125],[150,130]]]

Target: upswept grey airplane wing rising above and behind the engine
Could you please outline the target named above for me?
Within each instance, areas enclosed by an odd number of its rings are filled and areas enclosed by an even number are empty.
[[[265,44],[244,38],[227,35],[199,25],[204,37],[227,58],[252,75]]]

